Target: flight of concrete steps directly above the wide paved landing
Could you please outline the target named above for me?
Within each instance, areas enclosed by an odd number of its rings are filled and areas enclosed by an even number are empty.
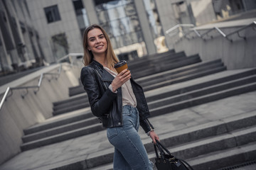
[[[162,91],[157,89],[146,94],[151,117],[164,115],[183,108],[197,106],[228,96],[235,96],[256,90],[256,69],[248,69],[233,74],[219,74],[193,79],[193,84],[183,82],[182,88]],[[187,86],[186,86],[187,85]],[[181,85],[180,85],[181,86]],[[90,108],[80,114],[65,119],[54,120],[24,130],[21,149],[28,150],[73,137],[88,135],[104,130],[99,120],[90,112]]]

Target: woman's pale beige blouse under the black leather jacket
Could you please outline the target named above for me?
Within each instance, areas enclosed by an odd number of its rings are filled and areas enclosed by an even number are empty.
[[[113,72],[109,68],[104,67],[104,69],[107,70],[107,72],[109,72],[113,77],[117,76],[117,73]],[[126,81],[122,85],[122,106],[125,105],[133,106],[134,108],[137,106],[137,100],[135,98],[134,92],[132,91],[132,84],[130,80]]]

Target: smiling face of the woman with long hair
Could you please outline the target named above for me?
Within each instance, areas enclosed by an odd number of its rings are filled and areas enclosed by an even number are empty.
[[[94,56],[106,54],[107,40],[102,30],[99,28],[94,28],[88,32],[87,42],[87,49],[90,50]]]

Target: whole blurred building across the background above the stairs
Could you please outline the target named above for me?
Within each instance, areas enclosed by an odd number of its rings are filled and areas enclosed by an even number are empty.
[[[166,30],[177,24],[201,26],[255,8],[255,0],[1,0],[0,72],[82,52],[82,33],[93,23],[107,30],[119,59],[132,60],[174,49]]]

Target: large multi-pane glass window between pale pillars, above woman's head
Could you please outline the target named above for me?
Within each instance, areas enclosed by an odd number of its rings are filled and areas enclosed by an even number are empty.
[[[133,0],[95,0],[95,11],[114,49],[143,42],[142,28]]]

